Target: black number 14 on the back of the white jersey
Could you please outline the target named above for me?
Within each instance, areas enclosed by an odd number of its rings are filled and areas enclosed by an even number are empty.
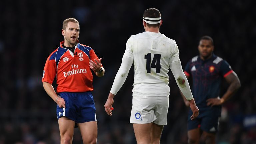
[[[160,73],[160,68],[162,68],[162,66],[160,65],[160,60],[161,60],[161,55],[160,54],[154,54],[151,65],[150,65],[151,53],[148,53],[147,55],[145,55],[144,58],[146,59],[147,73],[151,72],[151,68],[156,68],[156,73]]]

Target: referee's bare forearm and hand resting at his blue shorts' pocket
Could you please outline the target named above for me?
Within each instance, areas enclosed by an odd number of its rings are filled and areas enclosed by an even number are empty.
[[[64,99],[59,97],[56,94],[52,84],[50,84],[48,82],[43,82],[43,87],[44,87],[44,90],[46,91],[46,93],[59,105],[59,107],[65,108]]]

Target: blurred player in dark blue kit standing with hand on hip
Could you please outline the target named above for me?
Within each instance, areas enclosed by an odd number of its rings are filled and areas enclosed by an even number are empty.
[[[214,44],[211,37],[203,36],[199,41],[198,50],[199,55],[193,57],[184,69],[186,77],[193,79],[192,94],[200,110],[197,118],[188,119],[188,143],[214,144],[216,143],[221,105],[230,99],[241,84],[231,66],[213,54]],[[223,78],[229,87],[223,96],[219,96]],[[184,101],[188,106],[187,100],[184,99]],[[189,115],[191,113],[190,110]]]

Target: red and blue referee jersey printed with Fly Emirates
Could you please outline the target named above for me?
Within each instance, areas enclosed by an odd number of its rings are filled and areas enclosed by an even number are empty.
[[[60,42],[60,46],[47,58],[42,82],[52,84],[56,76],[57,93],[92,91],[93,75],[89,62],[99,61],[99,58],[89,46],[77,43],[73,55],[63,48],[63,44],[64,41]]]

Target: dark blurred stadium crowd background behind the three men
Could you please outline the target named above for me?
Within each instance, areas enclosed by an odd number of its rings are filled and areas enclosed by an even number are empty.
[[[256,143],[256,9],[243,0],[94,0],[0,2],[0,144],[57,144],[56,104],[43,89],[45,61],[59,42],[64,19],[80,21],[79,42],[91,46],[105,67],[105,76],[94,77],[98,144],[134,144],[129,123],[133,69],[115,97],[113,116],[104,104],[121,64],[127,39],[143,32],[142,14],[160,10],[160,32],[176,40],[183,67],[198,54],[198,40],[209,35],[215,54],[227,60],[242,87],[223,105],[218,144]],[[56,85],[54,85],[56,86]],[[187,143],[185,107],[170,73],[170,107],[161,144]],[[221,94],[227,88],[224,82]],[[82,143],[75,130],[74,144]]]

